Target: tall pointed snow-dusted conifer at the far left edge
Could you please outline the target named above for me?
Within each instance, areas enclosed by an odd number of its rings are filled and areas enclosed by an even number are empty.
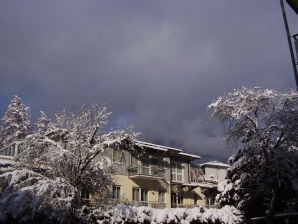
[[[6,145],[15,139],[22,139],[30,132],[29,107],[20,97],[14,96],[1,119],[0,145]]]

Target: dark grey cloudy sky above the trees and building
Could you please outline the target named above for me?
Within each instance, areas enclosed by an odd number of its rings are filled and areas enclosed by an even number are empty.
[[[104,103],[111,127],[205,159],[235,151],[207,110],[217,97],[296,88],[278,0],[3,0],[0,29],[1,117],[15,94],[32,123]]]

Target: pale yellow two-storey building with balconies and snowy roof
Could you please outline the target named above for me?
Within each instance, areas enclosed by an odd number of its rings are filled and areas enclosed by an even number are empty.
[[[20,141],[0,150],[0,160],[11,160]],[[154,208],[213,207],[217,184],[228,165],[212,161],[195,163],[201,157],[182,149],[143,141],[113,144],[106,149],[112,161],[113,203]],[[84,193],[89,202],[95,202]]]

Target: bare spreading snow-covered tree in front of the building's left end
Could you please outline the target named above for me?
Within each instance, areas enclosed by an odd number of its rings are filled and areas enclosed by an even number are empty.
[[[50,175],[63,177],[78,191],[84,189],[104,199],[112,184],[108,145],[130,141],[133,134],[124,130],[105,133],[110,113],[104,106],[82,106],[77,111],[56,115],[55,130],[29,135],[18,160]]]

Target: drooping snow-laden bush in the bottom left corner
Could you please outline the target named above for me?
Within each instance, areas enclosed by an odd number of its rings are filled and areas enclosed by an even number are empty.
[[[63,223],[73,216],[76,189],[63,178],[0,164],[0,223]]]

